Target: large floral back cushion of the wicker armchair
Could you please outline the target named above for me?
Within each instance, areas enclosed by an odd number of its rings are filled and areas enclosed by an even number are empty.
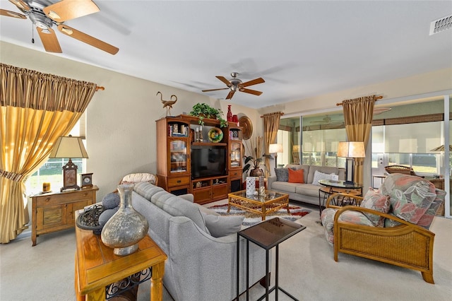
[[[391,213],[414,224],[417,224],[436,199],[434,184],[412,175],[388,175],[381,184],[380,191],[391,197]]]

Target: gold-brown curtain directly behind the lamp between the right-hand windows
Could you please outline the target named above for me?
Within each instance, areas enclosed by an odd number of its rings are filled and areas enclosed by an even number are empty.
[[[375,95],[344,100],[342,102],[345,131],[347,131],[348,141],[364,142],[364,150],[369,141],[372,129],[372,118],[374,114]],[[364,180],[364,158],[355,158],[355,179],[354,182],[362,183]]]

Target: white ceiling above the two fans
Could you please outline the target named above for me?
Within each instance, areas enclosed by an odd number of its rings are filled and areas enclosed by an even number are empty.
[[[57,2],[52,0],[52,2]],[[241,73],[261,96],[231,102],[266,107],[452,67],[452,29],[429,35],[452,1],[107,1],[66,21],[116,47],[107,54],[57,32],[54,54],[224,99],[215,76]],[[9,1],[3,9],[19,12]],[[0,16],[0,40],[44,52],[32,23]]]

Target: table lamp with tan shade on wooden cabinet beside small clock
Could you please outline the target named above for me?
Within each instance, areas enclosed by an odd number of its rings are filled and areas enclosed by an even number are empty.
[[[69,158],[69,162],[63,166],[63,187],[60,191],[80,189],[77,185],[77,165],[72,163],[71,158],[88,158],[82,138],[71,135],[59,137],[49,158]]]

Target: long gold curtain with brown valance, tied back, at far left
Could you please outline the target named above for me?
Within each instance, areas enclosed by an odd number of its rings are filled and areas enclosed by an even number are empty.
[[[25,181],[69,134],[95,90],[95,83],[0,63],[1,243],[26,229]]]

